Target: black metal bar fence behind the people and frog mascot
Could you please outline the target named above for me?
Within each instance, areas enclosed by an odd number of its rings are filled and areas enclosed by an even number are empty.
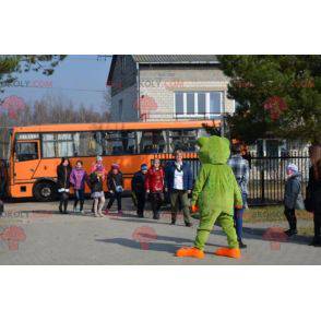
[[[173,154],[155,155],[155,158],[160,158],[163,165],[166,166],[168,160],[173,160]],[[249,205],[273,205],[283,202],[286,166],[288,164],[298,166],[301,173],[301,189],[305,197],[310,167],[307,154],[293,153],[282,157],[248,155],[247,159],[250,165]],[[201,167],[197,154],[186,153],[185,160],[190,164],[195,179]]]

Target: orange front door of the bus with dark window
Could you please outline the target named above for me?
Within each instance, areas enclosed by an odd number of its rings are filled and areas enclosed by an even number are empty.
[[[35,175],[39,164],[39,141],[16,141],[14,147],[14,181],[28,180]]]

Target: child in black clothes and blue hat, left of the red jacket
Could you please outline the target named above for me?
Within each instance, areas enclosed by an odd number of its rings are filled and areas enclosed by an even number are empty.
[[[144,217],[146,190],[145,190],[145,178],[147,173],[147,165],[142,164],[141,170],[136,171],[131,181],[131,190],[136,201],[138,216]]]

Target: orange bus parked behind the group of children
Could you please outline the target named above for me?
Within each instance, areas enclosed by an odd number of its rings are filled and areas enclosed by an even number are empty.
[[[57,195],[57,166],[68,157],[78,159],[87,173],[97,155],[109,170],[120,165],[124,189],[130,190],[133,174],[142,163],[148,166],[156,156],[168,158],[177,148],[195,152],[195,140],[205,133],[203,124],[218,121],[69,123],[14,127],[7,130],[0,147],[7,164],[7,194],[50,201]],[[3,143],[2,142],[2,143]],[[195,155],[195,154],[194,154]],[[105,189],[107,186],[105,183]],[[90,193],[86,187],[86,193]]]

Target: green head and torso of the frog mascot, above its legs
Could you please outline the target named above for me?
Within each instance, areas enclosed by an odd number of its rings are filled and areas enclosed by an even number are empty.
[[[242,206],[240,188],[231,168],[229,141],[210,136],[198,140],[199,158],[202,167],[194,185],[192,205],[198,204],[202,212],[223,212],[234,215],[234,206]]]

